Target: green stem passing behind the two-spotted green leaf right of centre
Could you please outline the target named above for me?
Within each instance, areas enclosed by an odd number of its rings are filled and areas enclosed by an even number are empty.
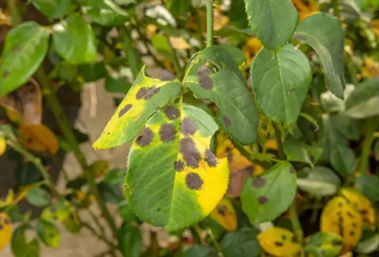
[[[284,150],[283,150],[283,143],[282,143],[282,137],[281,137],[280,130],[275,123],[273,123],[273,127],[275,130],[276,144],[278,145],[279,159],[285,160],[286,155],[285,155]],[[296,198],[291,203],[290,208],[289,208],[289,212],[290,212],[290,220],[291,220],[292,228],[294,229],[294,233],[296,235],[296,238],[297,238],[299,243],[302,243],[304,236],[303,236],[302,224],[300,223],[299,215],[298,215],[298,212],[296,210]]]

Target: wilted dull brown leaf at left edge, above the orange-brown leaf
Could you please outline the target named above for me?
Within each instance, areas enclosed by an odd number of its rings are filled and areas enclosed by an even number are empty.
[[[42,94],[33,78],[11,94],[1,97],[0,105],[17,112],[26,123],[41,123]]]

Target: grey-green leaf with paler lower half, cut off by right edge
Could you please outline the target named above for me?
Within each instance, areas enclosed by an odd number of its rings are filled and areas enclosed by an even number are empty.
[[[351,92],[345,102],[345,114],[356,119],[379,115],[379,77],[365,80]]]

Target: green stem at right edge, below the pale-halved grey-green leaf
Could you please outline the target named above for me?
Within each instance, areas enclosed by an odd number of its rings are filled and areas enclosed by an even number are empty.
[[[370,150],[373,145],[375,135],[379,125],[379,116],[368,118],[364,121],[364,127],[367,128],[367,135],[362,145],[359,173],[363,174],[369,167]]]

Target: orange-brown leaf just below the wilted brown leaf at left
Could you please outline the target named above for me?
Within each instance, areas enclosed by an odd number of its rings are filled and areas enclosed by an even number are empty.
[[[22,123],[19,130],[23,147],[39,152],[49,152],[52,155],[58,152],[58,140],[55,134],[45,125]]]

